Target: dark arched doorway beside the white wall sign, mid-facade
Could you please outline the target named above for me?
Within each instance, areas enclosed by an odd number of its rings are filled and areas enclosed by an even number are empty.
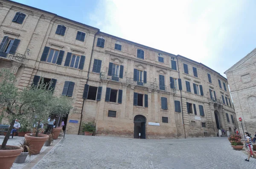
[[[143,115],[134,117],[134,138],[146,138],[146,118]]]

